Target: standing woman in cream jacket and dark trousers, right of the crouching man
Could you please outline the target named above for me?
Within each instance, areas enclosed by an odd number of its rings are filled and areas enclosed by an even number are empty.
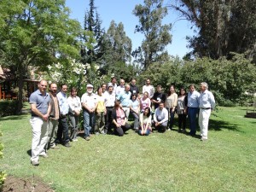
[[[169,113],[168,116],[170,116],[170,119],[168,120],[169,121],[168,122],[169,123],[168,131],[171,131],[173,123],[174,123],[175,109],[177,106],[177,93],[175,92],[173,85],[170,87],[170,90],[168,91],[165,106]]]

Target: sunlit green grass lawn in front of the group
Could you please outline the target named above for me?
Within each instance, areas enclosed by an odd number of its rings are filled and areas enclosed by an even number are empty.
[[[256,119],[245,113],[218,108],[207,143],[177,131],[79,137],[72,148],[49,150],[40,166],[30,164],[30,116],[5,117],[1,170],[40,177],[55,191],[256,191]]]

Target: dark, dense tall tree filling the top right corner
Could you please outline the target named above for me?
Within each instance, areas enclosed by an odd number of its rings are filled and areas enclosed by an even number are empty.
[[[175,2],[175,3],[174,3]],[[218,59],[230,52],[255,55],[256,12],[254,0],[177,0],[170,7],[195,25],[198,35],[189,37],[190,55]]]

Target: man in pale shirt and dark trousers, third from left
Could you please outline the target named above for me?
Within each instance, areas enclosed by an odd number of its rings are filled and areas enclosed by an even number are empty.
[[[67,114],[69,105],[67,101],[67,84],[61,84],[61,91],[57,94],[58,102],[60,105],[60,119],[57,131],[56,143],[62,143],[65,147],[70,148],[67,125]]]

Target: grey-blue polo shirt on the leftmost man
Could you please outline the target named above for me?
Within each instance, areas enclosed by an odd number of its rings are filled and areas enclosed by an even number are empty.
[[[40,92],[40,90],[34,91],[29,97],[30,104],[36,104],[36,108],[42,114],[46,114],[49,106],[50,96],[48,93],[45,93],[45,96]],[[38,117],[37,114],[32,113],[32,116]]]

